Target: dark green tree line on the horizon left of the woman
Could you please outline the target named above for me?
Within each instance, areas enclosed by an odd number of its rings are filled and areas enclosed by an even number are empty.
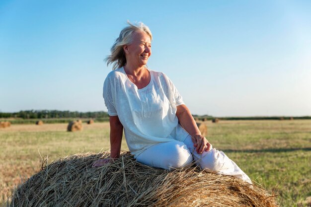
[[[58,110],[28,110],[13,113],[0,112],[0,118],[21,118],[21,119],[62,119],[62,118],[107,118],[108,113],[104,111],[97,112],[78,112],[78,111],[58,111]]]

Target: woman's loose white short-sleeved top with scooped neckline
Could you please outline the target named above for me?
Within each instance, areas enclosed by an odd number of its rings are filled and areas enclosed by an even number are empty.
[[[176,107],[184,104],[182,97],[163,72],[149,71],[151,80],[144,88],[138,89],[123,68],[111,71],[103,87],[108,114],[119,117],[135,157],[156,143],[188,136],[176,117]]]

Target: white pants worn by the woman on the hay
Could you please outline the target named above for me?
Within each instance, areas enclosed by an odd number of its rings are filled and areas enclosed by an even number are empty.
[[[231,175],[251,184],[249,177],[222,151],[212,148],[198,154],[190,135],[183,141],[169,141],[155,144],[137,157],[137,161],[162,169],[182,168],[193,160],[206,172]]]

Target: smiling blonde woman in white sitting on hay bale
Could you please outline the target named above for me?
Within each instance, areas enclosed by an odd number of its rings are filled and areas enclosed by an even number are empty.
[[[135,159],[149,166],[172,169],[193,160],[205,171],[232,175],[251,183],[248,176],[222,151],[203,137],[171,80],[147,68],[152,34],[143,23],[125,27],[111,48],[103,97],[110,116],[111,157],[120,156],[123,129]]]

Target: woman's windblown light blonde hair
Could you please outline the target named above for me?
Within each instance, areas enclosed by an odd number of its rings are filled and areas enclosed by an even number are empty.
[[[112,65],[112,69],[118,69],[126,65],[125,53],[123,50],[124,45],[129,45],[132,43],[133,32],[142,31],[146,32],[149,35],[150,40],[152,40],[152,34],[149,27],[143,22],[138,22],[135,24],[131,24],[130,21],[127,21],[129,26],[122,29],[119,37],[115,40],[112,45],[110,52],[111,54],[105,58],[107,62],[107,66]]]

